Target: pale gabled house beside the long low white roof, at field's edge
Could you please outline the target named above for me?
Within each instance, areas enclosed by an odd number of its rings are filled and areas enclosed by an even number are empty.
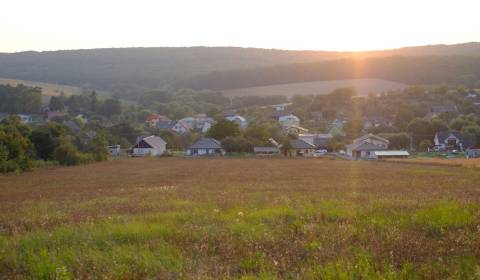
[[[374,134],[367,134],[347,145],[347,155],[353,159],[374,159],[375,151],[388,150],[389,141]]]

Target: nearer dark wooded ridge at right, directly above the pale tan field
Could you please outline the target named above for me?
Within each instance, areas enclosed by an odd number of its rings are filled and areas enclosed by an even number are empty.
[[[406,84],[480,87],[480,57],[428,56],[339,59],[213,72],[183,81],[192,89],[225,90],[276,84],[377,78]]]

